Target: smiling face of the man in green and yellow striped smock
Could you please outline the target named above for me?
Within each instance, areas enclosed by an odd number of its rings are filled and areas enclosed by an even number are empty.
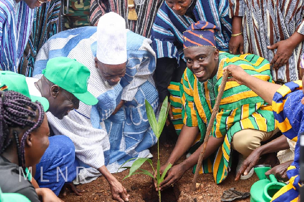
[[[208,46],[189,47],[184,49],[187,67],[200,82],[216,75],[218,69],[218,49]]]

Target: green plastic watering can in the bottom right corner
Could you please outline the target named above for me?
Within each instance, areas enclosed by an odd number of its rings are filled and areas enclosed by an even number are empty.
[[[251,186],[251,202],[270,202],[275,193],[286,185],[285,183],[278,182],[274,175],[269,175],[268,179],[265,172],[270,169],[270,165],[258,165],[254,167],[254,172],[259,180]]]

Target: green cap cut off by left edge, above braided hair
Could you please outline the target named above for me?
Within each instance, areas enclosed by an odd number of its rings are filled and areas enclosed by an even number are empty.
[[[0,71],[0,85],[6,85],[8,87],[8,90],[13,90],[29,97],[32,102],[40,102],[45,112],[48,111],[50,107],[47,98],[29,94],[24,75],[17,74],[11,71]]]

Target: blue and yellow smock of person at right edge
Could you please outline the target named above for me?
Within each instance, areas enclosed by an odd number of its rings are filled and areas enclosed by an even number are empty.
[[[287,169],[289,184],[284,186],[272,198],[272,201],[297,201],[299,195],[299,158],[300,158],[300,133],[304,132],[304,105],[302,81],[297,80],[286,83],[280,87],[273,98],[273,111],[279,129],[289,139],[296,142],[294,161]]]

